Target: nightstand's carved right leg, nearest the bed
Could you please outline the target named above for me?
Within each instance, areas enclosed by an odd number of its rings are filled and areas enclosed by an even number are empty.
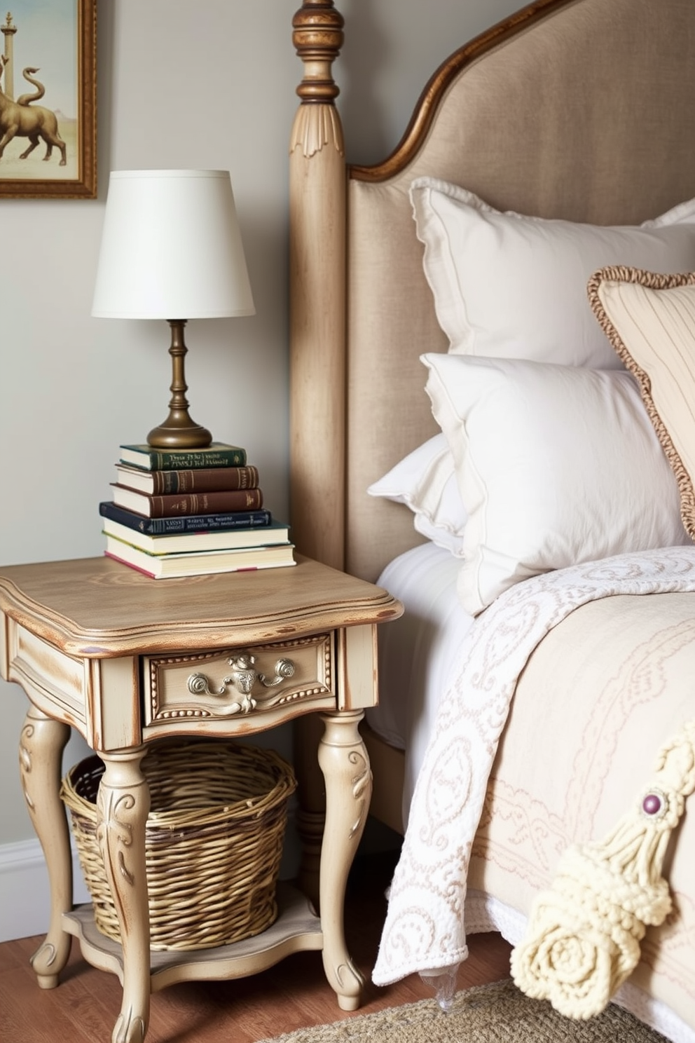
[[[345,945],[345,886],[372,796],[369,756],[357,730],[363,710],[322,714],[319,763],[326,782],[326,825],[321,851],[323,966],[344,1011],[359,1006],[364,978]]]

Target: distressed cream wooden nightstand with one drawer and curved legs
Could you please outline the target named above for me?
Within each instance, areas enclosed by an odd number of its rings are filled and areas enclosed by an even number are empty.
[[[0,569],[0,672],[31,702],[20,768],[51,884],[48,933],[32,959],[42,988],[57,985],[74,935],[84,957],[123,984],[114,1043],[144,1039],[151,992],[191,978],[252,974],[301,949],[322,951],[343,1009],[358,1005],[363,981],[343,929],[347,873],[371,796],[357,725],[377,698],[376,625],[401,610],[387,591],[305,558],[291,568],[162,581],[107,558]],[[230,657],[247,651],[257,670],[250,698],[228,677]],[[277,683],[266,686],[268,678]],[[280,914],[263,935],[202,952],[151,953],[149,793],[141,771],[147,744],[172,735],[251,735],[317,711],[326,792],[320,917],[304,895],[282,884]],[[71,728],[105,763],[100,849],[122,946],[96,930],[91,906],[73,909],[58,796]],[[312,773],[298,774],[301,784]]]

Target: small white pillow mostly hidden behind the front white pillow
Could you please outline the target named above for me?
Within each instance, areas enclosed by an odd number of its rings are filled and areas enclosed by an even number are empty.
[[[417,532],[454,557],[463,557],[467,514],[444,435],[418,445],[367,491],[370,496],[405,504],[415,515]]]

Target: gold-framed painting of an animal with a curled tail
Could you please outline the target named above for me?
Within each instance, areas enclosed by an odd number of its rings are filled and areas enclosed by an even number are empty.
[[[0,197],[97,194],[97,0],[10,0],[0,19]]]

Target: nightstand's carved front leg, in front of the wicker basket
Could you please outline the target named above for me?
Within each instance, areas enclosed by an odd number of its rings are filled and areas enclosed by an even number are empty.
[[[150,1013],[150,920],[145,823],[150,792],[141,769],[144,746],[101,753],[97,840],[118,914],[123,946],[123,1005],[113,1043],[143,1043]]]

